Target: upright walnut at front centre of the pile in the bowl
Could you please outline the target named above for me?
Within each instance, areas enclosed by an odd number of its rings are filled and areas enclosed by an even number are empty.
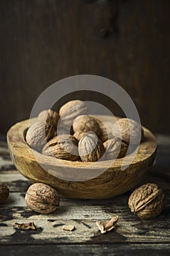
[[[94,132],[87,132],[79,141],[82,162],[96,162],[104,154],[104,146]]]

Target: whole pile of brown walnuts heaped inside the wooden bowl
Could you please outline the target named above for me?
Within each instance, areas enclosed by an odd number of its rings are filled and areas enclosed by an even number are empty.
[[[128,118],[118,119],[108,132],[102,121],[88,115],[85,102],[76,99],[63,105],[59,113],[39,113],[37,121],[28,128],[26,142],[51,157],[96,162],[125,157],[130,140],[135,146],[143,134],[141,125]]]

